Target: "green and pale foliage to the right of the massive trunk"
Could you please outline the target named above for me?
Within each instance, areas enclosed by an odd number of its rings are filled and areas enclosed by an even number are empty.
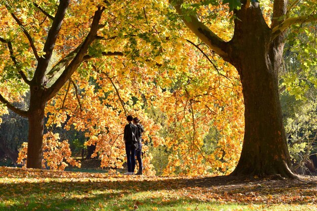
[[[280,99],[286,137],[293,170],[300,174],[314,172],[313,168],[307,169],[307,167],[316,155],[315,33],[316,23],[308,23],[305,28],[292,26],[287,30],[283,68],[280,73]]]

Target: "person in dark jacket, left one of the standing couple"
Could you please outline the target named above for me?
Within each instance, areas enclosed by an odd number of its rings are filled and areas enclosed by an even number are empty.
[[[137,148],[138,127],[132,124],[133,117],[127,117],[128,124],[124,130],[124,141],[126,145],[128,172],[125,175],[134,175],[135,169],[135,150]]]

